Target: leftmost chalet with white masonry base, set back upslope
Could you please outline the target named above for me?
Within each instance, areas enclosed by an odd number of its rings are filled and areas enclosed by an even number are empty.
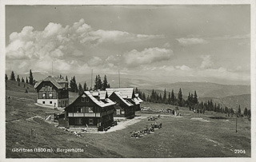
[[[69,105],[68,81],[59,77],[46,77],[34,85],[38,93],[37,102],[41,105],[66,107]]]

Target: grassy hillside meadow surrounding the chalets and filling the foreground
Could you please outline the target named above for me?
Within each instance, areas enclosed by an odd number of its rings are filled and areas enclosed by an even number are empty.
[[[6,95],[36,98],[36,93],[27,94],[21,89],[10,89],[14,83],[7,82]],[[25,96],[25,95],[26,96]],[[174,109],[171,105],[143,102],[150,109]],[[238,119],[238,133],[235,132],[235,118],[207,112],[198,114],[187,108],[179,108],[181,117],[163,113],[137,112],[137,116],[149,117],[160,114],[157,122],[162,128],[141,138],[130,138],[130,132],[141,130],[153,121],[142,119],[122,130],[104,134],[84,133],[74,136],[43,121],[47,109],[34,105],[33,101],[6,100],[6,158],[20,157],[250,157],[250,122]],[[33,135],[31,136],[31,129]],[[13,148],[46,148],[54,152],[13,152]],[[84,152],[57,152],[57,148],[82,148]],[[235,153],[235,149],[245,153]]]

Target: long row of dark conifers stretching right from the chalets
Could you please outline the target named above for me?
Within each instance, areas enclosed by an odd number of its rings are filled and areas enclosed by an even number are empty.
[[[196,90],[194,91],[194,94],[189,92],[186,99],[182,97],[182,89],[179,89],[178,97],[175,96],[174,89],[172,89],[171,93],[169,92],[168,95],[166,89],[164,90],[163,95],[162,93],[157,93],[157,91],[154,89],[152,89],[152,92],[147,97],[145,93],[142,93],[142,91],[138,88],[135,89],[135,93],[138,93],[138,97],[142,98],[143,101],[187,107],[190,110],[193,110],[195,113],[214,111],[217,113],[226,113],[228,117],[233,117],[233,115],[235,114],[234,109],[228,108],[226,106],[225,108],[222,108],[219,104],[217,105],[212,100],[206,102],[198,102],[198,95]],[[250,119],[251,112],[250,109],[245,108],[242,113],[240,105],[238,105],[238,112],[236,113],[236,115],[238,117],[248,117],[248,119]]]

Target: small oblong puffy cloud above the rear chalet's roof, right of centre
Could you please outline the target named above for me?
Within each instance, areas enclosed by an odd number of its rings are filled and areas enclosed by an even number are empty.
[[[136,49],[124,53],[123,58],[128,67],[137,67],[139,65],[149,65],[158,61],[170,60],[173,55],[171,49],[149,48],[142,51]]]

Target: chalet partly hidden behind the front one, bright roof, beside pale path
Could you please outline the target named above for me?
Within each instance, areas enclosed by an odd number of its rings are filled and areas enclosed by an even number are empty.
[[[142,99],[134,93],[134,88],[106,89],[110,100],[114,101],[114,117],[133,118],[135,112],[140,110]]]

